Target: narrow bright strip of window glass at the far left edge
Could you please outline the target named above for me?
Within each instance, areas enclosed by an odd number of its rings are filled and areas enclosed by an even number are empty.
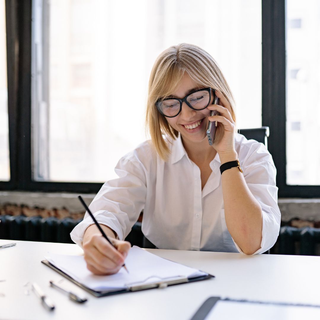
[[[0,181],[10,180],[7,52],[4,0],[0,0]]]

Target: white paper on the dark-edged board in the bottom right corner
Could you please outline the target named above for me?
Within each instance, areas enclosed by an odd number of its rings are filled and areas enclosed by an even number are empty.
[[[217,301],[205,320],[320,319],[320,308],[235,301]]]

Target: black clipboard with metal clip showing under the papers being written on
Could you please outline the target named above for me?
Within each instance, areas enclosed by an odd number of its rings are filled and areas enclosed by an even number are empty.
[[[100,297],[105,297],[105,296],[109,296],[109,295],[114,295],[114,294],[120,294],[120,293],[127,293],[127,292],[135,292],[135,291],[141,291],[141,290],[147,290],[147,289],[155,289],[155,288],[165,288],[169,285],[175,285],[175,284],[183,284],[183,283],[189,283],[189,282],[195,282],[195,281],[202,281],[202,280],[207,280],[207,279],[212,279],[215,276],[213,275],[206,275],[206,276],[196,276],[196,277],[177,277],[174,279],[170,279],[170,280],[163,280],[163,281],[157,281],[157,282],[152,282],[152,283],[148,283],[148,284],[135,284],[132,286],[129,286],[126,289],[121,289],[121,290],[106,290],[106,291],[94,291],[90,288],[88,288],[87,286],[81,284],[80,282],[76,281],[75,279],[73,279],[71,276],[67,275],[65,272],[63,272],[62,270],[60,270],[59,268],[57,268],[56,266],[54,266],[53,264],[51,264],[48,260],[41,260],[41,262],[43,264],[45,264],[46,266],[52,268],[54,271],[58,272],[61,276],[64,276],[65,278],[67,278],[68,280],[70,280],[71,282],[73,282],[74,284],[78,285],[80,288],[84,289],[85,291],[91,293],[93,296],[100,298]]]

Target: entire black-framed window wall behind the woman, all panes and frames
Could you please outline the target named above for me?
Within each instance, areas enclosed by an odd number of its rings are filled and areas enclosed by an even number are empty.
[[[0,109],[0,135],[6,132],[0,161],[6,159],[8,173],[0,180],[10,181],[0,181],[0,188],[97,192],[114,176],[116,161],[145,140],[146,90],[156,56],[189,42],[219,63],[235,96],[238,127],[269,126],[278,196],[319,197],[319,97],[310,89],[319,87],[319,4],[295,3],[6,1],[9,110]],[[298,50],[298,39],[308,50]],[[124,79],[123,95],[118,83]],[[309,90],[308,108],[314,103],[316,109],[308,119],[302,111],[309,109],[296,104],[301,86]],[[139,100],[120,108],[120,94]]]

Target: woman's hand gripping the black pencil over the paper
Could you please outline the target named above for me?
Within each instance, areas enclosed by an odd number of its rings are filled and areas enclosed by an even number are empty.
[[[122,268],[131,244],[112,237],[110,231],[112,233],[113,231],[110,228],[106,226],[101,228],[115,247],[109,244],[95,225],[91,225],[84,233],[84,260],[87,268],[95,275],[115,274]]]

